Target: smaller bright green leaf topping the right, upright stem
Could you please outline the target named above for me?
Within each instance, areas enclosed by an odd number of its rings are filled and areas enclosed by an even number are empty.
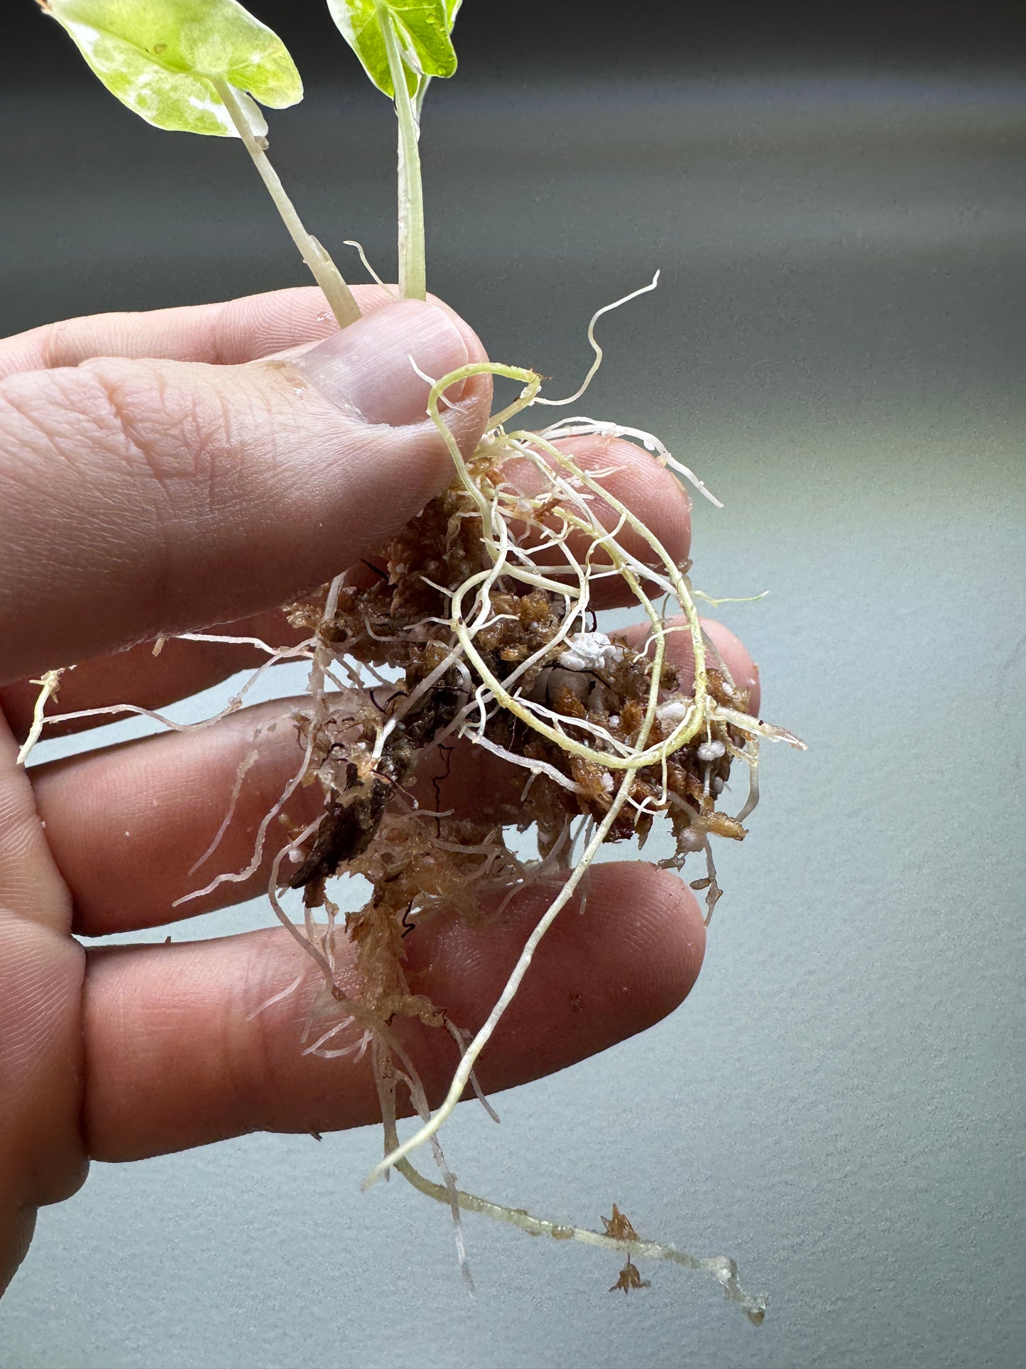
[[[450,34],[462,0],[328,0],[331,18],[384,94],[395,97],[382,23],[390,21],[416,94],[421,77],[451,77],[456,48]]]

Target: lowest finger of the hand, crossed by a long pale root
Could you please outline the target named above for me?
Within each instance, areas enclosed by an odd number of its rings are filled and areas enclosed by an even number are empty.
[[[410,990],[476,1029],[554,894],[555,886],[536,884],[480,931],[445,914],[415,928],[405,942]],[[702,917],[676,876],[650,865],[595,867],[584,913],[572,902],[555,920],[483,1053],[482,1087],[525,1083],[644,1031],[688,994],[703,947]],[[338,980],[357,994],[347,943],[339,956]],[[294,993],[256,1012],[297,976]],[[280,928],[89,951],[89,1154],[140,1160],[250,1131],[334,1131],[378,1120],[367,1055],[302,1053],[320,984],[320,972]],[[458,1064],[451,1038],[410,1021],[395,1020],[393,1029],[436,1103]],[[331,1046],[356,1046],[358,1036],[349,1028]]]

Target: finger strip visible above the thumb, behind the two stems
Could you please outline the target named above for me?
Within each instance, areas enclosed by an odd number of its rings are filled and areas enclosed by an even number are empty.
[[[353,294],[361,314],[394,298],[379,285],[353,286]],[[138,314],[93,314],[0,341],[0,379],[18,371],[81,366],[94,356],[239,366],[334,333],[338,323],[316,286]]]

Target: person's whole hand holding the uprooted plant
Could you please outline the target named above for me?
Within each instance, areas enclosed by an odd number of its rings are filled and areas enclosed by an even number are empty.
[[[70,1197],[90,1157],[378,1116],[365,1060],[300,1055],[319,972],[280,927],[92,950],[75,939],[226,906],[267,883],[269,860],[249,883],[171,906],[196,887],[189,868],[227,810],[256,726],[282,704],[27,773],[15,763],[42,671],[78,663],[60,712],[159,708],[205,689],[264,657],[170,641],[155,658],[138,643],[211,624],[287,641],[278,605],[358,561],[446,486],[450,457],[423,418],[427,385],[409,356],[442,375],[482,360],[480,342],[443,305],[358,294],[367,314],[342,334],[319,292],[283,290],[0,344],[0,1290],[36,1209]],[[450,398],[469,452],[490,383],[475,378]],[[569,445],[587,464],[616,465],[616,491],[687,556],[688,502],[668,472],[624,442]],[[737,683],[757,690],[736,639],[710,631]],[[487,761],[458,750],[449,802],[480,815],[508,797]],[[246,864],[295,763],[291,726],[264,732],[219,869]],[[413,986],[476,1028],[543,899],[525,891],[484,932],[445,919],[419,928]],[[703,945],[676,875],[596,867],[586,916],[570,908],[557,920],[482,1058],[483,1087],[561,1069],[648,1027],[689,991]],[[252,1016],[301,972],[295,993]],[[416,1023],[408,1031],[434,1102],[456,1047]]]

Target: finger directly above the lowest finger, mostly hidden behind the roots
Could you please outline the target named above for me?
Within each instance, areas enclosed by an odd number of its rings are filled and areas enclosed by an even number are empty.
[[[703,624],[739,687],[746,682],[758,690],[755,667],[737,638],[721,623]],[[644,628],[636,631],[643,639]],[[691,671],[685,634],[670,635],[668,649],[681,674]],[[290,794],[283,805],[287,821],[275,817],[267,827],[252,875],[174,906],[218,875],[250,864],[260,824],[302,760],[293,721],[301,705],[302,700],[261,704],[207,730],[167,732],[33,768],[51,850],[73,891],[77,932],[100,936],[155,927],[267,888],[289,830],[302,828],[320,812],[319,786]],[[758,697],[750,706],[758,706]],[[514,823],[523,787],[516,767],[464,741],[451,752],[430,749],[412,793],[427,809],[454,808],[456,816]],[[193,869],[228,812],[231,821],[216,852]]]

